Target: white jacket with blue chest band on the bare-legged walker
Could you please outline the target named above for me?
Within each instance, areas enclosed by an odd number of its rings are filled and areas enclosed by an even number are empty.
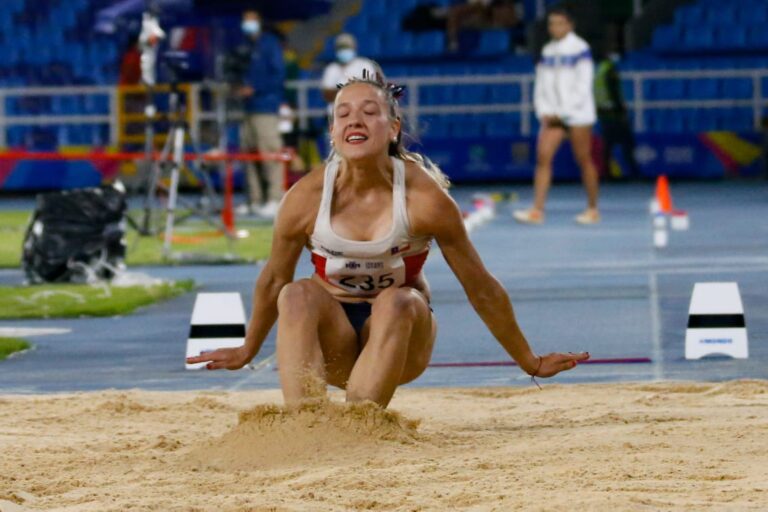
[[[589,45],[573,32],[547,43],[536,65],[536,117],[557,116],[567,126],[595,124],[594,74]]]

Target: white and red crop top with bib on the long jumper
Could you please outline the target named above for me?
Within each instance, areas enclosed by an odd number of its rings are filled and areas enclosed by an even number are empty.
[[[350,295],[375,297],[392,286],[412,285],[429,253],[430,237],[410,234],[405,204],[405,163],[392,158],[392,228],[379,240],[348,240],[331,228],[333,187],[339,169],[334,159],[325,168],[323,196],[309,249],[315,273]]]

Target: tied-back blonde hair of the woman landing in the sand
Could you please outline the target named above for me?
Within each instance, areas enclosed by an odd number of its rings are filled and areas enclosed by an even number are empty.
[[[403,144],[403,117],[400,111],[400,103],[398,98],[402,95],[405,87],[392,83],[386,83],[384,81],[384,77],[378,72],[375,73],[374,76],[370,76],[368,70],[366,69],[363,70],[362,78],[350,78],[347,82],[338,84],[336,87],[341,90],[352,84],[368,84],[381,90],[387,100],[387,111],[389,118],[401,121],[400,131],[397,133],[397,139],[389,143],[389,149],[387,151],[389,156],[394,156],[395,158],[399,158],[405,162],[415,163],[432,179],[434,179],[442,188],[447,189],[450,187],[451,182],[448,179],[448,176],[446,176],[445,173],[443,173],[443,171],[441,171],[440,168],[435,165],[434,162],[432,162],[432,160],[422,155],[421,153],[408,150],[405,147],[405,144]],[[331,123],[333,123],[333,115],[333,112],[331,112]],[[331,153],[328,155],[328,160],[330,161],[333,158],[336,158],[336,150],[332,147]]]

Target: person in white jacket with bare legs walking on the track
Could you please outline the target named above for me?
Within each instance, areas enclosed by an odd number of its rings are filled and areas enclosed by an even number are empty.
[[[591,154],[592,125],[597,118],[592,92],[592,54],[586,41],[573,32],[573,22],[567,11],[553,9],[547,23],[552,41],[541,52],[534,88],[534,107],[541,123],[534,204],[513,215],[515,220],[526,224],[544,221],[544,204],[552,183],[552,159],[568,136],[587,192],[587,209],[576,216],[576,222],[595,224],[600,221],[600,213],[597,209],[599,181]]]

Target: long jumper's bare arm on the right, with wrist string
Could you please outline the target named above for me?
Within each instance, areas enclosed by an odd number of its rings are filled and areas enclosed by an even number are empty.
[[[421,193],[425,193],[422,200],[412,203],[414,231],[426,231],[435,237],[475,311],[523,371],[551,377],[589,358],[588,353],[534,354],[517,324],[506,290],[485,268],[469,240],[458,205],[437,184],[431,191]]]

